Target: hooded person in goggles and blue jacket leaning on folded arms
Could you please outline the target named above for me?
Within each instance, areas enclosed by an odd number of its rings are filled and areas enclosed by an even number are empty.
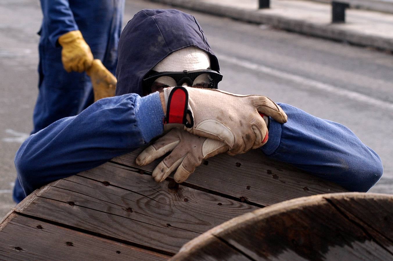
[[[175,179],[182,182],[204,158],[261,146],[272,159],[353,191],[367,191],[382,175],[378,155],[345,126],[264,96],[215,89],[222,77],[217,57],[196,19],[181,11],[138,12],[121,33],[116,76],[116,97],[22,144],[15,166],[26,195],[144,146],[164,130],[162,142],[137,160],[148,164],[172,151],[175,160],[160,163],[164,173],[153,173],[156,181],[177,168]]]

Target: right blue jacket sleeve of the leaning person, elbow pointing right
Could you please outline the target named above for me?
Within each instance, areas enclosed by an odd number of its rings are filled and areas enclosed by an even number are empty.
[[[279,104],[288,115],[280,124],[271,119],[269,140],[261,148],[270,158],[340,184],[366,192],[380,179],[380,157],[347,127],[305,111]]]

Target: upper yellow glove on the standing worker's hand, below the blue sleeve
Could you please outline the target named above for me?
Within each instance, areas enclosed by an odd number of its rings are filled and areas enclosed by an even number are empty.
[[[63,47],[61,61],[67,72],[77,71],[81,73],[90,68],[93,62],[93,54],[84,41],[81,31],[75,30],[65,33],[59,37],[58,41]]]

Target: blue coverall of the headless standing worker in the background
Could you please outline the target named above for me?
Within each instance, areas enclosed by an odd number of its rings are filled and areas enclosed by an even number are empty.
[[[115,73],[124,0],[41,0],[41,9],[39,94],[31,133],[77,115],[93,103],[92,85],[86,73],[67,73],[63,68],[62,48],[57,42],[61,35],[80,30],[94,58]],[[22,199],[22,195],[16,180],[13,197]]]

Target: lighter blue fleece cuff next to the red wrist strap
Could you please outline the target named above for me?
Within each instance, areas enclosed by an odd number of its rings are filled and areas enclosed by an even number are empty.
[[[135,115],[143,140],[147,143],[164,131],[160,93],[156,91],[144,97],[138,97],[135,102]]]

